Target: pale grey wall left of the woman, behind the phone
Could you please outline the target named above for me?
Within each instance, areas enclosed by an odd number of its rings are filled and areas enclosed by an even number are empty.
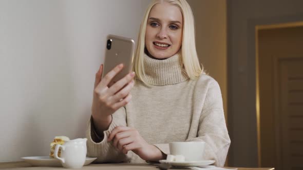
[[[148,3],[0,1],[0,162],[84,137],[105,37],[137,39]]]

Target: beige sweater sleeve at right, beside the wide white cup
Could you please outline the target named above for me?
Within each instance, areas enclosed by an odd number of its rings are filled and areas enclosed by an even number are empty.
[[[186,141],[204,141],[204,159],[215,160],[216,166],[224,166],[231,140],[226,128],[220,87],[216,81],[209,84],[197,137]]]

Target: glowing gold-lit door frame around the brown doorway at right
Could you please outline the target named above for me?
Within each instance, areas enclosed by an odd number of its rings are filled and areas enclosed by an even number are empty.
[[[252,18],[248,21],[248,73],[250,89],[255,89],[249,97],[255,98],[256,130],[257,130],[257,153],[258,166],[261,166],[260,147],[260,100],[259,100],[259,66],[258,66],[258,31],[261,29],[288,28],[303,26],[303,14]],[[276,120],[275,120],[276,122]],[[276,135],[276,134],[275,134]],[[278,154],[277,154],[278,155]],[[276,158],[277,159],[277,158]]]

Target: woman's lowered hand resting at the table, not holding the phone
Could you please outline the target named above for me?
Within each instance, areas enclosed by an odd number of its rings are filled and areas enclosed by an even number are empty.
[[[127,154],[132,151],[143,160],[158,161],[163,159],[163,154],[158,147],[148,144],[134,128],[117,126],[108,136],[107,141],[113,139],[113,146]]]

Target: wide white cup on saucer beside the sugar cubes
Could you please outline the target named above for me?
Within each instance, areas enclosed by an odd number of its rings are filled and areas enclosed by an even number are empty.
[[[183,155],[185,161],[203,160],[205,142],[172,142],[169,143],[171,155]]]

